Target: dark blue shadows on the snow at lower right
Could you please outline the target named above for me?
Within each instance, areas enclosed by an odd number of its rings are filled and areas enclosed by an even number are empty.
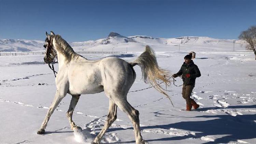
[[[229,109],[242,109],[242,108],[256,108],[256,105],[247,105],[247,106],[229,106]],[[208,107],[198,109],[197,111],[207,111],[213,109],[224,109],[222,107]],[[161,113],[157,112],[155,116],[161,117]],[[167,115],[167,114],[163,114]],[[170,115],[172,117],[165,118],[176,118],[178,116]],[[174,117],[173,117],[174,116]],[[196,135],[185,135],[185,136],[174,136],[170,138],[161,138],[161,139],[150,139],[146,140],[147,142],[151,141],[171,141],[171,140],[184,140],[188,138],[201,138],[202,136],[207,135],[226,135],[221,138],[215,139],[214,142],[205,142],[204,144],[210,143],[228,143],[230,141],[245,140],[245,139],[254,139],[256,138],[256,115],[201,115],[191,118],[207,118],[210,120],[205,121],[182,121],[174,124],[167,125],[155,125],[155,126],[145,126],[141,127],[143,129],[170,129],[176,128],[186,131],[196,131]],[[215,118],[215,119],[213,119]],[[127,128],[133,129],[133,128]],[[107,132],[125,130],[124,128],[110,128]],[[134,143],[135,141],[124,142],[124,143]],[[122,143],[122,142],[118,142]]]

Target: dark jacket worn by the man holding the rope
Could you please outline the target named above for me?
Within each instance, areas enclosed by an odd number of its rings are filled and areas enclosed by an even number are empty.
[[[182,75],[182,80],[184,85],[194,85],[196,83],[196,78],[201,76],[201,73],[196,64],[194,64],[193,60],[190,63],[186,64],[185,62],[182,64],[177,75]],[[187,78],[186,74],[190,74],[190,77]]]

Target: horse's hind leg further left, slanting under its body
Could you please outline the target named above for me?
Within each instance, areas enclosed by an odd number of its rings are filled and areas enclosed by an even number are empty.
[[[117,111],[117,105],[112,100],[109,100],[109,114],[108,114],[106,123],[104,127],[101,129],[100,133],[94,139],[93,141],[94,144],[100,143],[101,138],[105,134],[106,130],[108,130],[108,128],[116,120],[116,111]]]

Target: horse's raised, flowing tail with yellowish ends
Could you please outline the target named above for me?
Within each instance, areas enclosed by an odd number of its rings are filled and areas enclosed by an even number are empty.
[[[146,46],[145,51],[133,62],[130,62],[131,66],[139,65],[141,67],[142,79],[145,83],[150,83],[156,90],[163,93],[170,101],[170,97],[165,92],[159,83],[165,83],[170,85],[171,74],[169,71],[158,67],[155,52],[150,46]],[[172,104],[172,101],[171,101]],[[173,104],[172,104],[173,105]]]

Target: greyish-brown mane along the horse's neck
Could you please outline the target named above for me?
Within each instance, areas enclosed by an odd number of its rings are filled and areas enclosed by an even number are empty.
[[[56,40],[56,49],[66,57],[67,63],[76,56],[80,56],[74,52],[73,48],[60,35],[54,35],[53,38]]]

